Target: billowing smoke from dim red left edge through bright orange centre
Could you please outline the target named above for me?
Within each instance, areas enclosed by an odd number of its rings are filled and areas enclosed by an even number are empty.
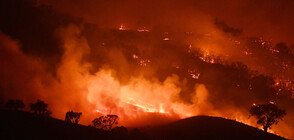
[[[93,117],[106,114],[119,115],[122,124],[128,126],[144,125],[145,120],[150,119],[148,116],[155,118],[148,122],[150,125],[196,114],[209,114],[207,109],[211,109],[212,105],[206,103],[208,92],[204,85],[195,85],[193,102],[187,104],[179,97],[180,81],[174,74],[163,82],[155,77],[151,81],[144,77],[132,77],[127,85],[122,84],[116,78],[115,70],[110,68],[102,67],[91,74],[91,64],[82,61],[90,48],[85,38],[80,36],[80,29],[71,25],[57,32],[64,52],[56,77],[46,72],[43,62],[21,52],[16,41],[1,35],[4,56],[1,64],[5,68],[1,70],[1,77],[4,78],[1,82],[5,82],[1,83],[3,98],[23,99],[26,103],[44,100],[57,118],[63,118],[68,110],[81,111],[82,123],[90,123]],[[16,62],[21,62],[21,65],[11,68],[7,64]],[[17,90],[14,88],[16,86]],[[140,119],[141,122],[138,122]]]

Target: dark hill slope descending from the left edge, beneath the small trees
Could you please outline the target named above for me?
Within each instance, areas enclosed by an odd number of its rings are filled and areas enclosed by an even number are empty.
[[[29,112],[0,110],[0,140],[126,139],[92,127],[44,118]]]

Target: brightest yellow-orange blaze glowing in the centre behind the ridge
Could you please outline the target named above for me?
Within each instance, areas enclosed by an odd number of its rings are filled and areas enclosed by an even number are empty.
[[[205,86],[199,85],[196,89],[196,104],[185,105],[177,101],[180,92],[175,85],[177,80],[176,75],[168,77],[163,83],[134,78],[130,84],[122,86],[111,76],[110,71],[101,71],[90,81],[88,100],[97,104],[97,112],[118,114],[122,119],[139,117],[142,113],[176,115],[181,118],[196,115],[193,106],[205,103],[202,98],[206,97],[198,96],[201,92],[207,92]],[[202,88],[201,91],[199,88]]]

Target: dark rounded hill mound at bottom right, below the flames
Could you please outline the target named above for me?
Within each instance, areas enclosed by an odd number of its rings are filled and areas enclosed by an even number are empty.
[[[152,139],[164,140],[283,140],[274,134],[233,120],[197,116],[146,131]]]

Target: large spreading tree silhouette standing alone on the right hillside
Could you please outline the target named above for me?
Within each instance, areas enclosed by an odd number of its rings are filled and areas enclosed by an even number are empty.
[[[254,105],[249,112],[257,118],[257,124],[262,125],[265,132],[286,115],[285,110],[281,110],[271,103]]]

